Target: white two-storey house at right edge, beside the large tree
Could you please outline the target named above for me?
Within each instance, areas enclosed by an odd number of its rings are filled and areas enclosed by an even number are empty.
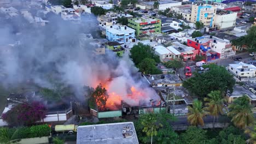
[[[229,64],[229,71],[238,79],[256,77],[256,67],[253,64],[240,62],[238,64]]]

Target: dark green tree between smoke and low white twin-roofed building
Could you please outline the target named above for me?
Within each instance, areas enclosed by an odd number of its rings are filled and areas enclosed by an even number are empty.
[[[150,48],[149,45],[143,45],[138,43],[131,49],[131,58],[135,65],[138,65],[145,58],[152,58],[156,63],[160,62],[159,56],[155,55],[154,50]]]

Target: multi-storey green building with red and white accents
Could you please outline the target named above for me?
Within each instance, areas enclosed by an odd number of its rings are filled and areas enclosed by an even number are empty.
[[[128,20],[128,26],[135,29],[137,36],[161,33],[161,20],[155,17],[137,17]]]

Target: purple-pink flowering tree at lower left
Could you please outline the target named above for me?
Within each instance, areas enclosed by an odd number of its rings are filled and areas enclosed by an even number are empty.
[[[42,118],[45,118],[47,113],[46,107],[38,101],[32,103],[24,103],[16,105],[7,113],[2,115],[3,121],[9,125],[31,125]]]

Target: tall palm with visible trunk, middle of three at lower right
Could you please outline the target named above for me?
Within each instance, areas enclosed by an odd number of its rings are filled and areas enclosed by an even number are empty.
[[[210,112],[210,115],[213,116],[213,128],[215,118],[219,116],[219,114],[223,115],[224,101],[225,99],[222,97],[222,93],[220,91],[212,91],[208,94],[209,98],[204,98],[203,100],[207,101],[205,104],[206,110]]]

